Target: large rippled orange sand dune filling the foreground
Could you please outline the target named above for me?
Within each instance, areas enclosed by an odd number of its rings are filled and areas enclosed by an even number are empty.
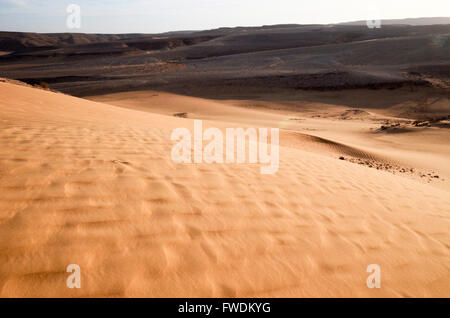
[[[188,118],[175,102],[155,114],[9,83],[0,96],[2,297],[450,296],[449,191],[336,156],[386,157],[371,148],[383,141],[350,139],[370,123],[332,139],[327,121],[180,96],[166,103],[182,99]],[[278,173],[176,165],[170,134],[192,118],[278,121]],[[81,289],[66,287],[69,264]],[[369,264],[381,289],[366,286]]]

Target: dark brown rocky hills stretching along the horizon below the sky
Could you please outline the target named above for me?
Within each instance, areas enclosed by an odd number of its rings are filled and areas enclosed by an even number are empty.
[[[165,34],[0,32],[0,76],[77,96],[206,86],[450,87],[450,23],[434,24],[445,21],[388,20],[379,29],[364,22]],[[406,24],[413,22],[432,25]]]

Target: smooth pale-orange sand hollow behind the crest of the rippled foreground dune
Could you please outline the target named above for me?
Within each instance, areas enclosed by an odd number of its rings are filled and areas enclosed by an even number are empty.
[[[372,94],[367,91],[364,96],[364,90],[361,90],[354,103],[364,104],[359,100],[374,98]],[[411,122],[398,117],[398,108],[406,112],[414,108],[408,104],[414,103],[396,101],[392,107],[366,107],[361,110],[345,106],[346,94],[334,95],[334,99],[329,98],[334,104],[308,101],[311,98],[308,94],[296,95],[294,101],[286,101],[284,95],[277,94],[272,94],[270,101],[209,100],[155,91],[130,91],[87,98],[150,113],[168,116],[182,114],[191,119],[219,122],[219,125],[279,127],[283,129],[282,146],[333,158],[345,156],[357,163],[402,173],[450,190],[450,134],[447,129],[395,127],[404,131],[396,134],[380,132],[386,121]],[[269,99],[267,96],[263,98]],[[441,104],[440,112],[448,112],[448,99],[443,99]],[[437,115],[430,112],[428,116]],[[413,173],[405,174],[411,169]],[[439,176],[439,180],[434,178],[435,175]]]

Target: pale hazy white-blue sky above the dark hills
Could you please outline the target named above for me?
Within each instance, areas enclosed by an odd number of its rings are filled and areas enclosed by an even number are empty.
[[[69,4],[81,28],[68,29]],[[0,0],[0,31],[156,33],[280,23],[450,16],[450,0]]]

